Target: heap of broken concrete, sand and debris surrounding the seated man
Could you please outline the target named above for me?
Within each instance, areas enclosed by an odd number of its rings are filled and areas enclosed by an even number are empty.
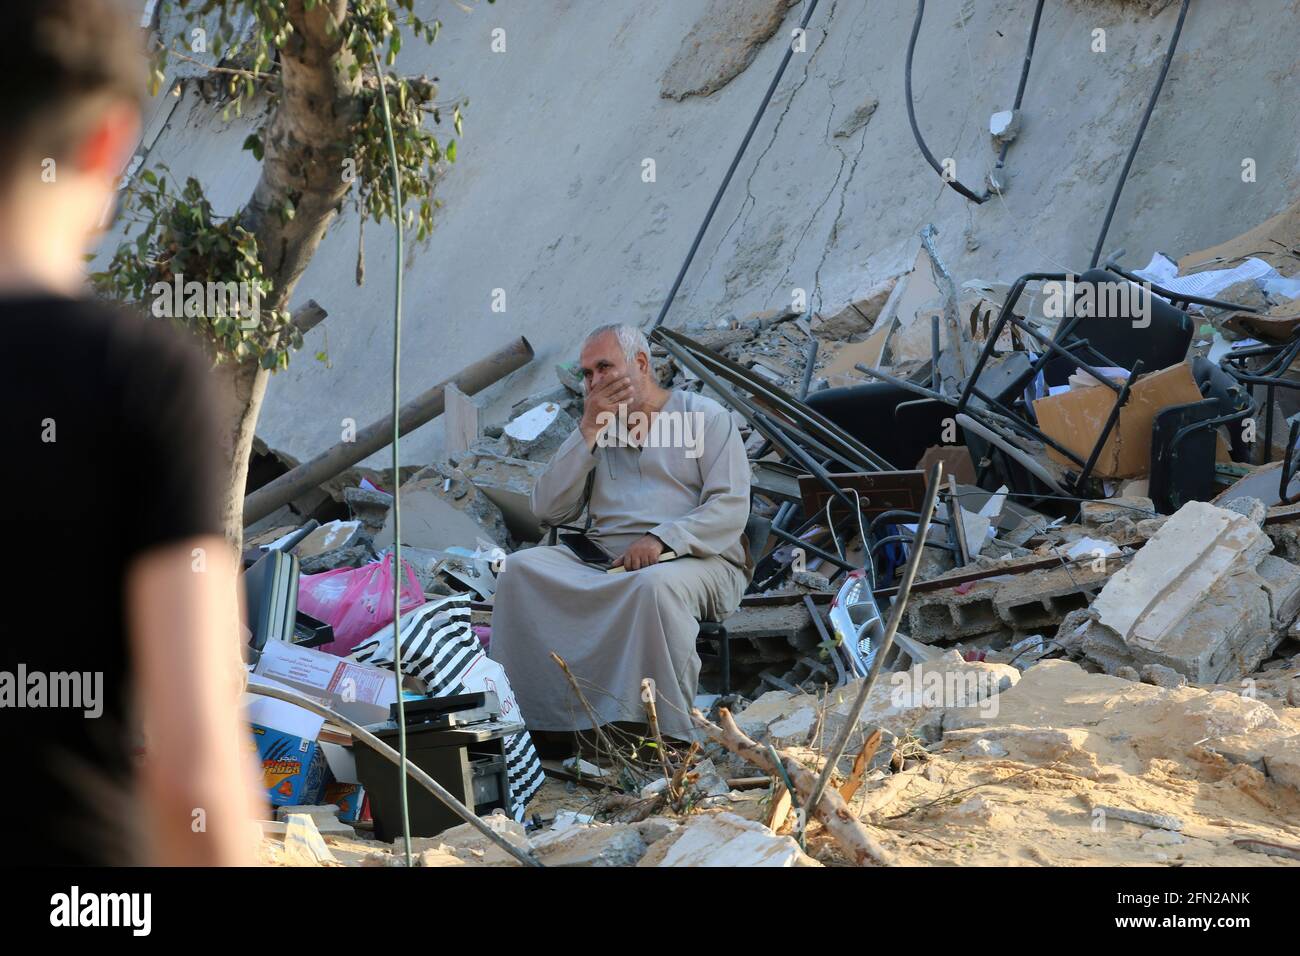
[[[1044,346],[1022,325],[1053,334],[1061,319],[1035,293],[1015,304],[1020,325],[998,332],[1011,289],[954,281],[923,234],[911,269],[849,300],[651,338],[664,386],[732,408],[751,511],[772,535],[724,622],[728,670],[706,661],[699,747],[547,763],[526,818],[485,817],[493,832],[556,866],[1300,858],[1286,823],[1300,819],[1300,481],[1288,484],[1286,419],[1300,392],[1279,390],[1268,431],[1262,392],[1232,377],[1257,368],[1232,359],[1234,342],[1254,342],[1300,299],[1248,282],[1216,293],[1234,306],[1184,303],[1186,354],[1136,375],[1131,362],[1100,369],[1114,373],[1108,386],[1078,367],[1052,384],[1045,368],[1030,375]],[[546,540],[532,486],[582,414],[576,362],[554,371],[554,388],[495,423],[452,395],[446,454],[402,475],[403,555],[425,598],[472,601],[485,644],[493,561]],[[983,394],[1002,389],[998,408],[962,403],[976,375]],[[1162,445],[1162,414],[1216,395],[1245,411],[1212,423],[1195,454],[1192,440]],[[1239,441],[1245,420],[1260,441]],[[772,441],[774,423],[826,473]],[[858,442],[879,453],[870,470]],[[939,501],[916,541],[936,462]],[[304,575],[374,564],[394,542],[385,480],[352,468],[254,528],[250,554],[316,516],[292,544]],[[844,489],[861,515],[840,503]],[[818,806],[809,780],[820,774]],[[818,817],[826,801],[848,830]],[[402,862],[400,840],[367,839],[364,819],[318,806],[283,817],[268,823],[273,862]],[[1123,839],[1095,839],[1098,818]],[[468,825],[420,836],[415,855],[519,865]]]

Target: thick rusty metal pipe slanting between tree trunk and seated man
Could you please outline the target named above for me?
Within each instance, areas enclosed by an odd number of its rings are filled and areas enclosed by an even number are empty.
[[[447,385],[455,385],[467,395],[472,395],[500,381],[516,368],[526,365],[532,359],[533,346],[520,336],[510,345],[478,359],[472,365],[465,365],[451,378],[438,382],[402,406],[396,432],[406,434],[441,415],[445,407],[443,389]],[[299,464],[274,481],[263,485],[244,498],[244,527],[386,447],[393,441],[393,415],[385,415],[378,421],[360,429],[352,441],[342,441],[312,460]]]

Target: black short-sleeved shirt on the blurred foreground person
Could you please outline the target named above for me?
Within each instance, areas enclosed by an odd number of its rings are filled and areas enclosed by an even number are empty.
[[[131,862],[125,575],[153,548],[221,533],[208,363],[164,320],[90,300],[0,298],[0,766],[21,821],[3,862]],[[18,706],[42,683],[46,706]]]

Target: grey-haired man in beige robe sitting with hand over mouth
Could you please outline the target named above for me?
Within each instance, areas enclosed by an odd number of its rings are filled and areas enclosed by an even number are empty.
[[[650,345],[630,325],[595,329],[580,364],[582,419],[537,479],[532,507],[555,527],[585,506],[588,537],[625,572],[585,563],[563,544],[508,555],[491,656],[529,730],[592,727],[555,652],[599,723],[644,722],[641,682],[650,678],[663,732],[684,737],[698,622],[733,611],[753,574],[745,446],[718,402],[659,386]],[[668,551],[676,558],[662,559]]]

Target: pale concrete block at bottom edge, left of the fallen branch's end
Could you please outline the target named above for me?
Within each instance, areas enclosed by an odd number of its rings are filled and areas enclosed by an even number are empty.
[[[654,844],[638,866],[820,866],[792,836],[734,813],[692,817]]]

